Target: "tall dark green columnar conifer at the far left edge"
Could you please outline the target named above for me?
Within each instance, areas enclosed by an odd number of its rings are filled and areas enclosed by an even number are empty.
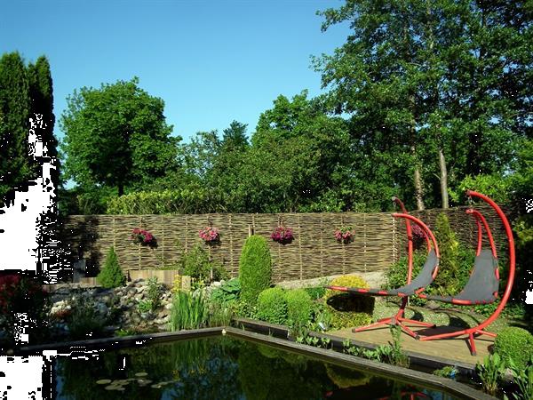
[[[28,156],[28,74],[19,52],[0,59],[0,198],[34,177]],[[2,203],[4,200],[1,201]]]

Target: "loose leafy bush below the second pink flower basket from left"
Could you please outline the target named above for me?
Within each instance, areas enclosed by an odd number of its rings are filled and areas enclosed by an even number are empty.
[[[205,251],[202,244],[195,244],[190,252],[184,253],[180,263],[182,275],[204,282],[211,282],[211,275],[216,281],[227,277],[226,268],[218,262],[211,261],[209,253]]]

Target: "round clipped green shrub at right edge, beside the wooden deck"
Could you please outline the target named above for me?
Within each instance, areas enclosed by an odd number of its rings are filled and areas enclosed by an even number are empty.
[[[494,352],[506,362],[512,359],[513,363],[523,370],[529,357],[533,355],[533,335],[516,326],[505,328],[494,340]]]

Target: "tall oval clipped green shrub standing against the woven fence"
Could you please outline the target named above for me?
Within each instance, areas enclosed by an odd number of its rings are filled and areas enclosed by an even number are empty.
[[[264,237],[253,235],[244,243],[239,278],[241,300],[252,306],[257,304],[259,293],[267,289],[272,280],[272,260]]]

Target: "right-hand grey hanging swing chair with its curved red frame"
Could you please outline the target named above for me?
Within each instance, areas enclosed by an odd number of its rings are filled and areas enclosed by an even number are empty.
[[[481,324],[477,324],[471,328],[459,330],[456,332],[447,332],[435,335],[420,336],[419,332],[416,334],[415,338],[418,340],[439,340],[439,339],[448,339],[456,336],[468,335],[468,342],[470,345],[470,352],[473,356],[476,355],[474,337],[480,335],[488,335],[490,337],[496,337],[495,333],[485,331],[485,328],[489,326],[492,322],[497,319],[497,316],[505,308],[507,300],[511,295],[511,289],[513,288],[514,281],[514,241],[513,241],[513,232],[509,221],[505,217],[505,213],[499,208],[499,206],[494,203],[488,196],[481,195],[481,193],[473,192],[471,190],[466,191],[466,196],[470,199],[472,197],[478,197],[487,204],[489,204],[497,216],[502,221],[505,228],[505,235],[507,236],[508,252],[509,252],[509,274],[507,277],[507,284],[505,286],[505,292],[500,300],[496,310]],[[418,293],[418,297],[421,299],[427,300],[438,300],[451,304],[457,304],[461,306],[475,305],[475,304],[489,304],[497,300],[498,297],[498,287],[499,287],[499,271],[497,266],[497,251],[496,244],[494,243],[494,238],[492,232],[490,231],[489,224],[481,212],[469,208],[466,211],[468,214],[473,215],[477,230],[477,251],[476,258],[473,265],[473,271],[468,279],[468,282],[465,284],[465,288],[454,296],[431,296],[424,293]],[[485,233],[489,240],[490,249],[482,249],[482,232],[481,226],[485,229]]]

